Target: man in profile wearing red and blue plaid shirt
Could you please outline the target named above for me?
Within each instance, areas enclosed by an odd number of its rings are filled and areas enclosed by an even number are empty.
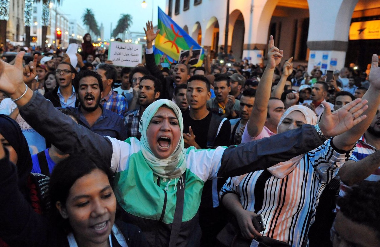
[[[110,64],[100,64],[96,70],[103,80],[103,99],[100,104],[107,110],[119,114],[123,117],[125,110],[128,109],[125,97],[111,90],[112,85],[116,81],[117,72],[114,66]]]

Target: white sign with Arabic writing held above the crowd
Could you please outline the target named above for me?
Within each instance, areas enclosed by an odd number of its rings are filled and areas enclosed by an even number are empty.
[[[141,63],[142,45],[112,41],[108,48],[108,60],[113,65],[135,67]]]

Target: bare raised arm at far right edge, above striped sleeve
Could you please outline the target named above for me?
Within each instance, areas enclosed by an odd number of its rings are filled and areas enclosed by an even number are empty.
[[[341,150],[350,150],[355,145],[355,143],[369,127],[376,115],[377,108],[380,105],[380,67],[378,67],[378,56],[376,54],[372,56],[369,81],[369,89],[362,97],[362,100],[368,100],[368,109],[363,113],[367,116],[367,118],[355,127],[351,128],[349,131],[334,137],[334,144]],[[327,105],[328,104],[324,104],[325,108],[328,107]],[[352,113],[351,109],[347,110]],[[352,118],[358,118],[359,116],[360,114],[358,113],[352,113],[351,115]]]

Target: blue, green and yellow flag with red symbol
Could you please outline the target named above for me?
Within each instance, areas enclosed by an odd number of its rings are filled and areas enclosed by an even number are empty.
[[[159,7],[157,28],[160,29],[160,33],[155,39],[155,46],[160,51],[178,61],[181,50],[190,50],[190,47],[194,46],[193,50],[201,49],[201,56],[195,66],[200,67],[202,65],[204,54],[201,46]]]

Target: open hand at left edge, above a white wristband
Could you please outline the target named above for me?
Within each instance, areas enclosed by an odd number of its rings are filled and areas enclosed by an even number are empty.
[[[24,51],[17,53],[14,65],[0,60],[0,90],[13,99],[17,99],[25,91],[24,68],[22,67],[24,54]]]

